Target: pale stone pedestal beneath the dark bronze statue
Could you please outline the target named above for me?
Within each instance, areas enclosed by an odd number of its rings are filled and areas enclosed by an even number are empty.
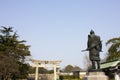
[[[104,72],[89,72],[83,80],[109,80]]]

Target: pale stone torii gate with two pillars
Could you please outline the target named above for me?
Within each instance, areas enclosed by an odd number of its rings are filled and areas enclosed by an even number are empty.
[[[34,59],[31,59],[31,61],[34,63],[34,67],[36,67],[35,80],[38,80],[38,68],[39,67],[54,68],[54,80],[57,79],[56,68],[60,68],[60,66],[59,66],[59,64],[61,63],[60,60],[49,61],[49,60],[34,60]],[[46,65],[46,64],[52,64],[52,65]]]

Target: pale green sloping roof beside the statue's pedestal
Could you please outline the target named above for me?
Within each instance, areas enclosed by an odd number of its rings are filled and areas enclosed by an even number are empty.
[[[118,64],[120,64],[120,59],[117,59],[117,60],[114,60],[114,61],[109,61],[109,62],[101,63],[100,67],[101,67],[101,69],[104,69],[104,68],[112,68],[112,67],[118,66]]]

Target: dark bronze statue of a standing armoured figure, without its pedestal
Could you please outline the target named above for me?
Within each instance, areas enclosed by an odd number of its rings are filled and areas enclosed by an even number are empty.
[[[89,58],[92,62],[92,69],[100,69],[99,52],[102,51],[102,44],[100,37],[95,35],[93,30],[91,30],[88,35],[87,50],[89,51]]]

